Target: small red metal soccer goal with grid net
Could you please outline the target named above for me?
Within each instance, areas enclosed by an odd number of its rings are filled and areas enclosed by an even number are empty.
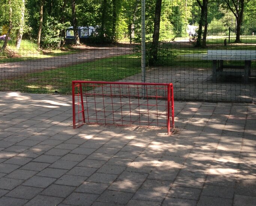
[[[82,124],[174,129],[173,85],[72,81],[73,128]]]

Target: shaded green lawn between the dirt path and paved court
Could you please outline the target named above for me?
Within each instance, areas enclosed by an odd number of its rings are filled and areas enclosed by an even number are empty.
[[[136,54],[96,60],[89,63],[30,73],[17,79],[2,80],[0,90],[31,93],[71,94],[72,80],[117,81],[141,72],[141,60]]]

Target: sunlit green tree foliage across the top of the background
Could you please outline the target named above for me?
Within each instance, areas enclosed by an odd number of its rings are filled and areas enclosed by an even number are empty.
[[[256,33],[256,0],[162,0],[160,7],[159,2],[146,1],[150,42],[154,33],[159,41],[188,36],[188,25],[198,28],[198,46],[206,46],[207,35],[226,35],[229,27],[237,36],[235,42],[241,42],[240,35]],[[40,48],[64,46],[71,27],[76,44],[79,27],[95,28],[88,33],[92,43],[141,39],[140,0],[0,0],[0,4],[0,36],[9,31],[17,48],[21,38],[34,40]]]

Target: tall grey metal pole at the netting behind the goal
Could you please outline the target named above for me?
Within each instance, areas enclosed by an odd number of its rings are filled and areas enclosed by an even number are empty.
[[[145,0],[141,0],[141,72],[142,82],[146,82],[146,48],[145,48]],[[142,96],[145,97],[145,85],[142,87]]]

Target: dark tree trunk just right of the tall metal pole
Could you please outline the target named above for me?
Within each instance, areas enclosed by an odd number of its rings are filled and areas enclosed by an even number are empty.
[[[154,33],[153,33],[153,41],[150,48],[150,58],[149,65],[152,66],[157,61],[157,51],[158,51],[158,43],[159,43],[159,32],[160,32],[160,19],[161,19],[161,7],[162,0],[156,1],[156,10],[154,17]]]

